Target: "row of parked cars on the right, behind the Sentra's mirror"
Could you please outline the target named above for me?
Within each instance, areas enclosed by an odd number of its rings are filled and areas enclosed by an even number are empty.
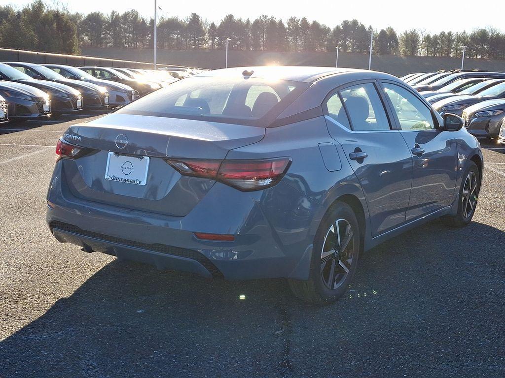
[[[442,116],[461,116],[470,134],[505,142],[505,73],[451,70],[409,74],[401,79]]]

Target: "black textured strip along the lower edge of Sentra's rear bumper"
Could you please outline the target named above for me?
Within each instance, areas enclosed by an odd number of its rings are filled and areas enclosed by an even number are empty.
[[[123,244],[123,245],[131,246],[134,248],[141,248],[141,249],[151,250],[154,252],[159,252],[162,254],[173,255],[173,256],[183,257],[186,259],[196,260],[198,263],[203,265],[204,268],[207,269],[212,274],[212,276],[214,278],[223,278],[223,274],[221,273],[221,271],[207,257],[200,254],[196,250],[179,248],[179,247],[174,247],[171,245],[158,244],[158,243],[156,243],[156,244],[141,243],[139,241],[133,241],[133,240],[123,239],[123,238],[119,238],[119,237],[104,235],[104,234],[100,234],[97,232],[85,231],[85,230],[80,229],[77,226],[74,226],[74,225],[71,225],[68,223],[59,222],[59,221],[51,222],[49,224],[49,228],[51,228],[51,230],[53,228],[58,228],[62,231],[68,231],[68,232],[72,232],[72,233],[79,234],[82,236],[92,237],[94,239],[110,241],[112,243]]]

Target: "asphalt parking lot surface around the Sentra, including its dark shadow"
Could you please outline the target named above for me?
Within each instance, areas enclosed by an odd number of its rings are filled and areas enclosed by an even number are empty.
[[[318,307],[282,280],[206,280],[58,243],[54,146],[95,116],[0,125],[0,377],[505,376],[505,145],[483,144],[470,226],[381,244],[348,295]]]

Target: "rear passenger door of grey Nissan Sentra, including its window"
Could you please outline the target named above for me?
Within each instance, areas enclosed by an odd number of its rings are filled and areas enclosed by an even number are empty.
[[[370,212],[372,236],[405,223],[412,155],[384,109],[378,84],[338,89],[323,104],[328,130],[358,176]]]

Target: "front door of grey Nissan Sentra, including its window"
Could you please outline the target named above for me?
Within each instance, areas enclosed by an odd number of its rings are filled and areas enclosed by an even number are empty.
[[[435,127],[432,109],[406,86],[381,82],[400,134],[413,155],[412,191],[407,221],[452,203],[456,186],[456,133]]]

